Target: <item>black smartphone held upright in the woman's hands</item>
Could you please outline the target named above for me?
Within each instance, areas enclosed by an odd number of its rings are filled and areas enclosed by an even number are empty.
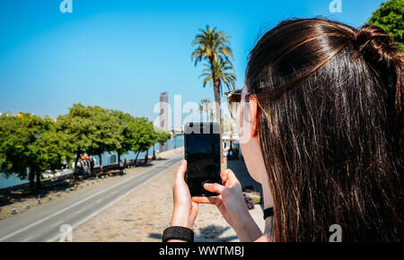
[[[185,181],[191,196],[216,196],[205,183],[220,183],[220,126],[217,123],[188,123],[184,127]]]

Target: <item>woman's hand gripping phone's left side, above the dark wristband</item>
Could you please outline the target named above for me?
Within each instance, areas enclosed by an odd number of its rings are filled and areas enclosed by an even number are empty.
[[[184,176],[187,170],[187,160],[181,160],[180,167],[175,174],[172,184],[174,197],[174,211],[172,212],[171,226],[181,226],[192,229],[198,215],[198,204],[191,200],[189,187]]]

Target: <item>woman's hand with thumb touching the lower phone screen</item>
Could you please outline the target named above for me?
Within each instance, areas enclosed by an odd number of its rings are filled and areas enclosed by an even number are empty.
[[[222,184],[205,184],[204,188],[213,193],[219,194],[216,197],[192,197],[192,201],[198,204],[215,204],[224,216],[224,220],[233,227],[234,230],[245,226],[246,221],[252,220],[247,205],[242,195],[242,185],[235,177],[231,169],[225,169],[220,174]]]

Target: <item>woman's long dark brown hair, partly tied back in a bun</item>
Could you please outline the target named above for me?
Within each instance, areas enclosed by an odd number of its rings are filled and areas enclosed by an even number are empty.
[[[403,56],[382,29],[281,22],[246,86],[274,197],[275,241],[403,241]]]

